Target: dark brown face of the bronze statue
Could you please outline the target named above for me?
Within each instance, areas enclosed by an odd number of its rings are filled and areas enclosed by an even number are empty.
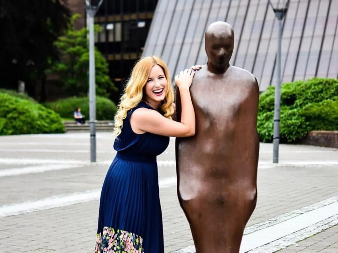
[[[228,34],[206,36],[208,61],[216,67],[226,66],[234,51],[234,38]]]

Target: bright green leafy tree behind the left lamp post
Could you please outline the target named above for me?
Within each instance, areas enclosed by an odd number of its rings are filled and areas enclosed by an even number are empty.
[[[59,76],[68,95],[87,96],[89,90],[88,30],[86,28],[74,29],[74,22],[79,17],[81,17],[79,14],[72,16],[66,34],[55,42],[62,57],[53,64],[50,73]],[[95,26],[94,29],[99,32],[101,27]],[[107,97],[108,92],[118,90],[108,76],[106,59],[96,48],[95,83],[96,94],[100,96]]]

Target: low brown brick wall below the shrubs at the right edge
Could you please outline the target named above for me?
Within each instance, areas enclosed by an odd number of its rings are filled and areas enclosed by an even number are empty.
[[[338,131],[311,131],[301,144],[338,148]]]

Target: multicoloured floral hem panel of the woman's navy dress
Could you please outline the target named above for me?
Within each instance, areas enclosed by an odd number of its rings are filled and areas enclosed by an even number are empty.
[[[95,253],[144,253],[143,238],[121,229],[103,227],[96,235]]]

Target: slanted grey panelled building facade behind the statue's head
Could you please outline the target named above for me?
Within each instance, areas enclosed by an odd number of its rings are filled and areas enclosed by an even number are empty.
[[[282,26],[282,82],[338,78],[337,8],[338,0],[290,0]],[[162,57],[172,77],[205,64],[204,31],[214,21],[234,28],[231,64],[253,73],[260,90],[274,85],[277,21],[268,0],[159,0],[143,55]]]

